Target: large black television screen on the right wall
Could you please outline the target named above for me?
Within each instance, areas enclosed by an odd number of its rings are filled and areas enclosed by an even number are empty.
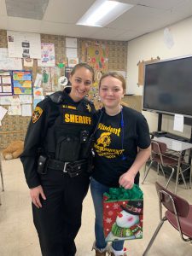
[[[192,56],[145,66],[143,110],[192,118]]]

